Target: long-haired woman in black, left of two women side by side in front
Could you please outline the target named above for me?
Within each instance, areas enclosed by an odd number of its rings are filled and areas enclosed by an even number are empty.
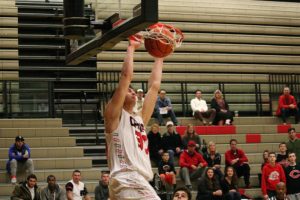
[[[223,192],[214,170],[207,168],[203,177],[198,182],[198,193],[196,200],[221,200]]]

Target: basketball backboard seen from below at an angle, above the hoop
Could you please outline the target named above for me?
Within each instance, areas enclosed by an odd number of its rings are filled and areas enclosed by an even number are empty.
[[[158,0],[86,0],[85,3],[90,3],[95,11],[95,21],[91,21],[89,26],[100,32],[66,55],[68,65],[77,65],[103,50],[111,49],[158,21]]]

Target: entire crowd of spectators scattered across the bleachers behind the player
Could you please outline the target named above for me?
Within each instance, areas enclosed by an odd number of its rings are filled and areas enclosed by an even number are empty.
[[[143,107],[143,90],[137,90],[137,104],[135,111]],[[283,90],[279,98],[277,114],[283,123],[287,117],[294,115],[298,123],[298,108],[295,98],[290,94],[288,87]],[[202,99],[202,92],[195,91],[195,98],[191,100],[193,116],[202,121],[203,125],[231,125],[233,114],[222,92],[216,90],[209,109],[206,101]],[[191,199],[190,191],[193,189],[192,181],[197,181],[197,200],[202,199],[241,199],[238,181],[244,178],[245,188],[250,188],[251,164],[246,152],[238,148],[238,141],[231,139],[229,149],[226,151],[225,169],[221,167],[222,155],[218,153],[214,141],[202,143],[201,138],[192,124],[188,124],[183,136],[180,136],[175,126],[179,125],[170,98],[166,91],[160,90],[154,110],[158,124],[154,123],[148,133],[150,158],[158,168],[159,177],[165,189],[174,191],[173,199]],[[164,124],[163,117],[168,116],[171,121]],[[166,125],[167,131],[160,133],[160,126]],[[176,159],[177,158],[177,159]],[[290,128],[288,141],[279,144],[279,152],[263,152],[261,173],[258,174],[264,199],[300,198],[300,165],[296,159],[300,158],[300,140],[297,139],[296,130]],[[178,163],[176,163],[178,161]],[[180,170],[177,172],[175,166]],[[26,171],[29,175],[25,182],[17,184],[17,172]],[[30,158],[30,147],[22,136],[15,138],[15,143],[9,148],[7,172],[11,183],[16,184],[11,199],[82,199],[89,200],[85,184],[81,182],[81,172],[74,170],[72,179],[64,186],[56,183],[56,177],[49,175],[47,185],[43,188],[37,186],[37,177],[34,175],[33,161]],[[179,173],[185,187],[176,188],[176,174]],[[95,199],[109,199],[109,172],[101,173],[99,185],[95,187]],[[196,188],[194,188],[196,189]]]

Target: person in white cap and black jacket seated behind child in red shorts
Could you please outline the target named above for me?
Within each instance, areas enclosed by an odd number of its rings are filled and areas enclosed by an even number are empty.
[[[170,161],[174,163],[174,156],[179,156],[182,152],[181,137],[174,130],[174,124],[171,121],[167,122],[167,132],[162,137],[162,148],[169,152]]]

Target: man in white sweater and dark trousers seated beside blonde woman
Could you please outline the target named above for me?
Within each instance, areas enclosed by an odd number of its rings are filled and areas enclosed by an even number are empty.
[[[195,98],[191,100],[191,108],[193,111],[193,116],[199,119],[203,125],[211,125],[216,116],[215,109],[208,109],[206,101],[202,99],[201,90],[195,91]]]

